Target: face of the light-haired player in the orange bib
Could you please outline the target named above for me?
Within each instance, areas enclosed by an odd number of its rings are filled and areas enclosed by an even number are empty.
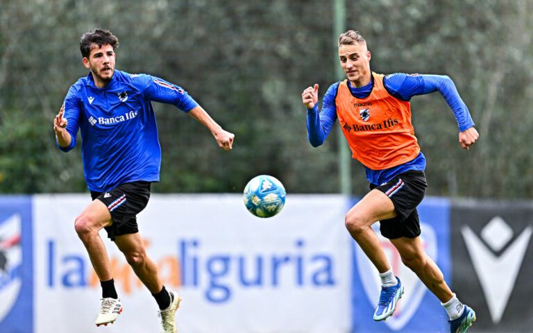
[[[370,52],[366,49],[366,44],[341,45],[339,60],[344,74],[355,87],[370,83]]]

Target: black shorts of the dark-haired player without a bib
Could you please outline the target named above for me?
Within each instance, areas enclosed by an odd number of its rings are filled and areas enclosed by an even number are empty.
[[[105,192],[91,191],[92,200],[100,200],[111,213],[112,225],[104,227],[108,237],[115,241],[121,234],[135,234],[137,214],[144,210],[150,198],[151,182],[126,182]]]

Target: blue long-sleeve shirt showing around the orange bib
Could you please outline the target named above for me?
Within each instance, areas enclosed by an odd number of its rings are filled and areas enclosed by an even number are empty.
[[[462,132],[474,126],[468,108],[466,108],[455,85],[448,76],[396,73],[385,76],[383,83],[389,94],[403,101],[409,101],[415,95],[430,94],[439,91],[455,115],[459,131]],[[339,82],[332,84],[328,88],[328,91],[324,95],[320,112],[318,105],[315,105],[313,109],[307,110],[307,133],[312,146],[323,144],[325,138],[330,133],[333,123],[337,120],[335,98],[338,87]],[[350,92],[353,96],[358,99],[364,99],[371,93],[373,82],[371,81],[364,87],[351,87],[350,85],[348,87],[350,87]],[[389,169],[373,170],[365,167],[366,178],[375,185],[380,185],[383,182],[391,180],[398,173],[424,169],[425,157],[423,153],[418,154],[412,161]]]

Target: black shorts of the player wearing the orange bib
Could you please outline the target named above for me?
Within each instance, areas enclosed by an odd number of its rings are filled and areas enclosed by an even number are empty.
[[[383,237],[396,239],[420,236],[420,221],[416,206],[424,198],[426,187],[428,184],[425,182],[425,173],[418,170],[400,173],[382,185],[370,185],[370,189],[378,189],[391,198],[396,210],[396,217],[380,221],[380,232]]]

